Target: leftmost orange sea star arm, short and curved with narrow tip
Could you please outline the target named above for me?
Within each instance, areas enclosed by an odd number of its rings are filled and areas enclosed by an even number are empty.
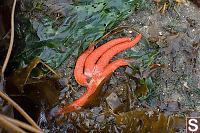
[[[82,86],[87,86],[87,76],[83,73],[83,69],[84,69],[84,65],[85,65],[85,60],[87,59],[88,55],[90,55],[90,53],[92,53],[92,51],[94,50],[94,43],[92,43],[90,45],[90,48],[88,48],[85,52],[83,52],[77,62],[76,62],[76,66],[74,69],[74,76],[76,81],[82,85]]]

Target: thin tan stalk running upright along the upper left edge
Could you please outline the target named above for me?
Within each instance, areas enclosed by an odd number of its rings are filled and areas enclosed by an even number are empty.
[[[3,67],[1,69],[1,73],[0,75],[3,75],[6,69],[6,66],[8,64],[8,60],[10,58],[10,54],[12,51],[12,47],[13,47],[13,42],[14,42],[14,13],[15,13],[15,5],[16,5],[16,0],[14,0],[13,2],[13,6],[12,6],[12,14],[11,14],[11,36],[10,36],[10,44],[9,44],[9,48],[8,48],[8,52],[6,55],[6,59],[3,63]]]

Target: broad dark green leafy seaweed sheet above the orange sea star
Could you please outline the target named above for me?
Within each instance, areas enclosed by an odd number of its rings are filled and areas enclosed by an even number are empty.
[[[19,64],[17,67],[24,67],[24,64],[38,56],[55,68],[70,54],[80,55],[105,31],[133,11],[144,8],[144,2],[87,0],[49,3],[34,0],[33,8],[17,17],[17,33],[25,44],[15,56],[14,62]],[[61,17],[56,17],[56,13]]]

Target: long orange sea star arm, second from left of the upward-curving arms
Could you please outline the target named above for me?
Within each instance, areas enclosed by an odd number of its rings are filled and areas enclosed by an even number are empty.
[[[113,39],[107,43],[105,43],[104,45],[98,47],[97,49],[95,49],[86,59],[85,61],[85,75],[88,76],[92,76],[94,67],[95,67],[95,63],[97,62],[97,60],[99,59],[100,56],[102,56],[103,53],[105,53],[108,49],[110,49],[111,47],[119,44],[119,43],[123,43],[123,42],[129,42],[131,41],[131,39],[129,37],[124,37],[124,38],[117,38],[117,39]]]

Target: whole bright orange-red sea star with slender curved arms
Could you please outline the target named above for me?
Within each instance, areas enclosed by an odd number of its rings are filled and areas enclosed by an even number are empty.
[[[57,114],[72,112],[91,100],[91,96],[95,93],[97,87],[108,75],[118,67],[128,65],[126,59],[118,59],[109,64],[110,60],[117,53],[137,44],[140,38],[141,34],[138,34],[133,40],[129,37],[113,39],[95,50],[95,43],[92,43],[90,48],[79,56],[74,70],[76,81],[80,85],[86,86],[87,90],[78,100],[60,108]]]

